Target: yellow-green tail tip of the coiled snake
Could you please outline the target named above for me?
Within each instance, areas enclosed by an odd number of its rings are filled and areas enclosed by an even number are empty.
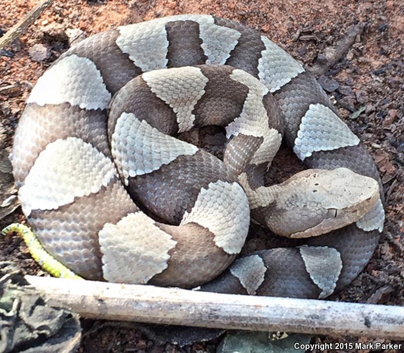
[[[65,265],[61,264],[58,260],[54,259],[42,247],[35,233],[27,226],[21,223],[12,223],[2,230],[2,234],[17,233],[24,239],[32,258],[42,267],[46,272],[49,272],[55,277],[70,278],[70,279],[83,279],[76,275],[73,271],[69,270]]]

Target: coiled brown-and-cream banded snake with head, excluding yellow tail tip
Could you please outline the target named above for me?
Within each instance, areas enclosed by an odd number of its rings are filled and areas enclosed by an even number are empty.
[[[176,138],[207,125],[226,132],[223,161]],[[264,186],[282,138],[311,169]],[[362,271],[384,222],[375,163],[315,78],[210,15],[71,47],[32,89],[12,164],[42,246],[92,280],[323,298]],[[235,260],[250,217],[305,245]]]

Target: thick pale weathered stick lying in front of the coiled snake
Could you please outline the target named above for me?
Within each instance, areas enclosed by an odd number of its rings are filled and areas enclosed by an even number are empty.
[[[404,338],[404,308],[26,276],[83,317],[227,329]]]

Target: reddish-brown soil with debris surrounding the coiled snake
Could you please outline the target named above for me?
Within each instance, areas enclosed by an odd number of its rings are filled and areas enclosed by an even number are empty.
[[[5,32],[36,1],[2,0],[0,28]],[[307,66],[318,54],[341,39],[347,28],[365,25],[346,56],[326,73],[338,85],[328,87],[341,117],[364,141],[375,158],[387,199],[385,231],[375,254],[363,273],[332,299],[403,305],[404,293],[404,2],[335,0],[236,1],[135,0],[135,1],[54,1],[19,40],[0,53],[0,149],[8,149],[24,102],[37,78],[69,44],[64,31],[78,28],[88,36],[101,30],[166,15],[203,13],[237,20],[254,27],[280,44]],[[47,58],[31,59],[34,44],[48,49]],[[31,52],[31,56],[32,56]],[[324,77],[322,78],[324,81]],[[324,86],[327,86],[327,80]],[[328,81],[329,83],[330,81]],[[2,87],[12,86],[2,90]],[[335,87],[335,85],[334,85]],[[333,88],[334,88],[333,87]],[[361,107],[366,110],[350,118]],[[282,154],[282,158],[292,158]],[[277,170],[275,165],[274,170]],[[20,209],[0,220],[0,229],[22,221]],[[249,245],[260,242],[254,235]],[[252,245],[254,243],[254,245]],[[0,260],[14,259],[28,273],[44,275],[16,236],[0,239]],[[98,327],[83,321],[82,352],[205,352],[213,344],[179,348],[159,345],[139,331],[123,327]],[[313,341],[385,341],[377,337],[317,337]],[[404,343],[401,342],[401,343]],[[366,352],[369,350],[363,350]]]

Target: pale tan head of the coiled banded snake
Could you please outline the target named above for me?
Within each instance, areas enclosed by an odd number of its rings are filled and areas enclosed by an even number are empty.
[[[379,184],[347,168],[308,169],[272,186],[276,192],[265,221],[275,233],[316,236],[354,223],[379,198]]]

